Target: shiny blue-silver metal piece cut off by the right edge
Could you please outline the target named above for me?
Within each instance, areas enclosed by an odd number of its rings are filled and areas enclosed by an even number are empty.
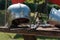
[[[60,9],[52,8],[49,17],[51,20],[60,22]]]

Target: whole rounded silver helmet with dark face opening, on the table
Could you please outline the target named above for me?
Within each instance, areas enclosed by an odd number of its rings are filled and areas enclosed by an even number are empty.
[[[21,3],[12,4],[7,9],[8,26],[11,24],[19,25],[29,22],[30,8]]]

